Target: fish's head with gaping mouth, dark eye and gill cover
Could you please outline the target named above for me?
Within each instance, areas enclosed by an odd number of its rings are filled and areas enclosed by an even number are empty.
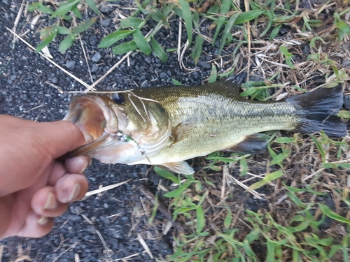
[[[130,91],[74,96],[64,120],[76,124],[87,141],[71,155],[103,163],[151,163],[150,157],[167,145],[172,129],[160,103]]]

